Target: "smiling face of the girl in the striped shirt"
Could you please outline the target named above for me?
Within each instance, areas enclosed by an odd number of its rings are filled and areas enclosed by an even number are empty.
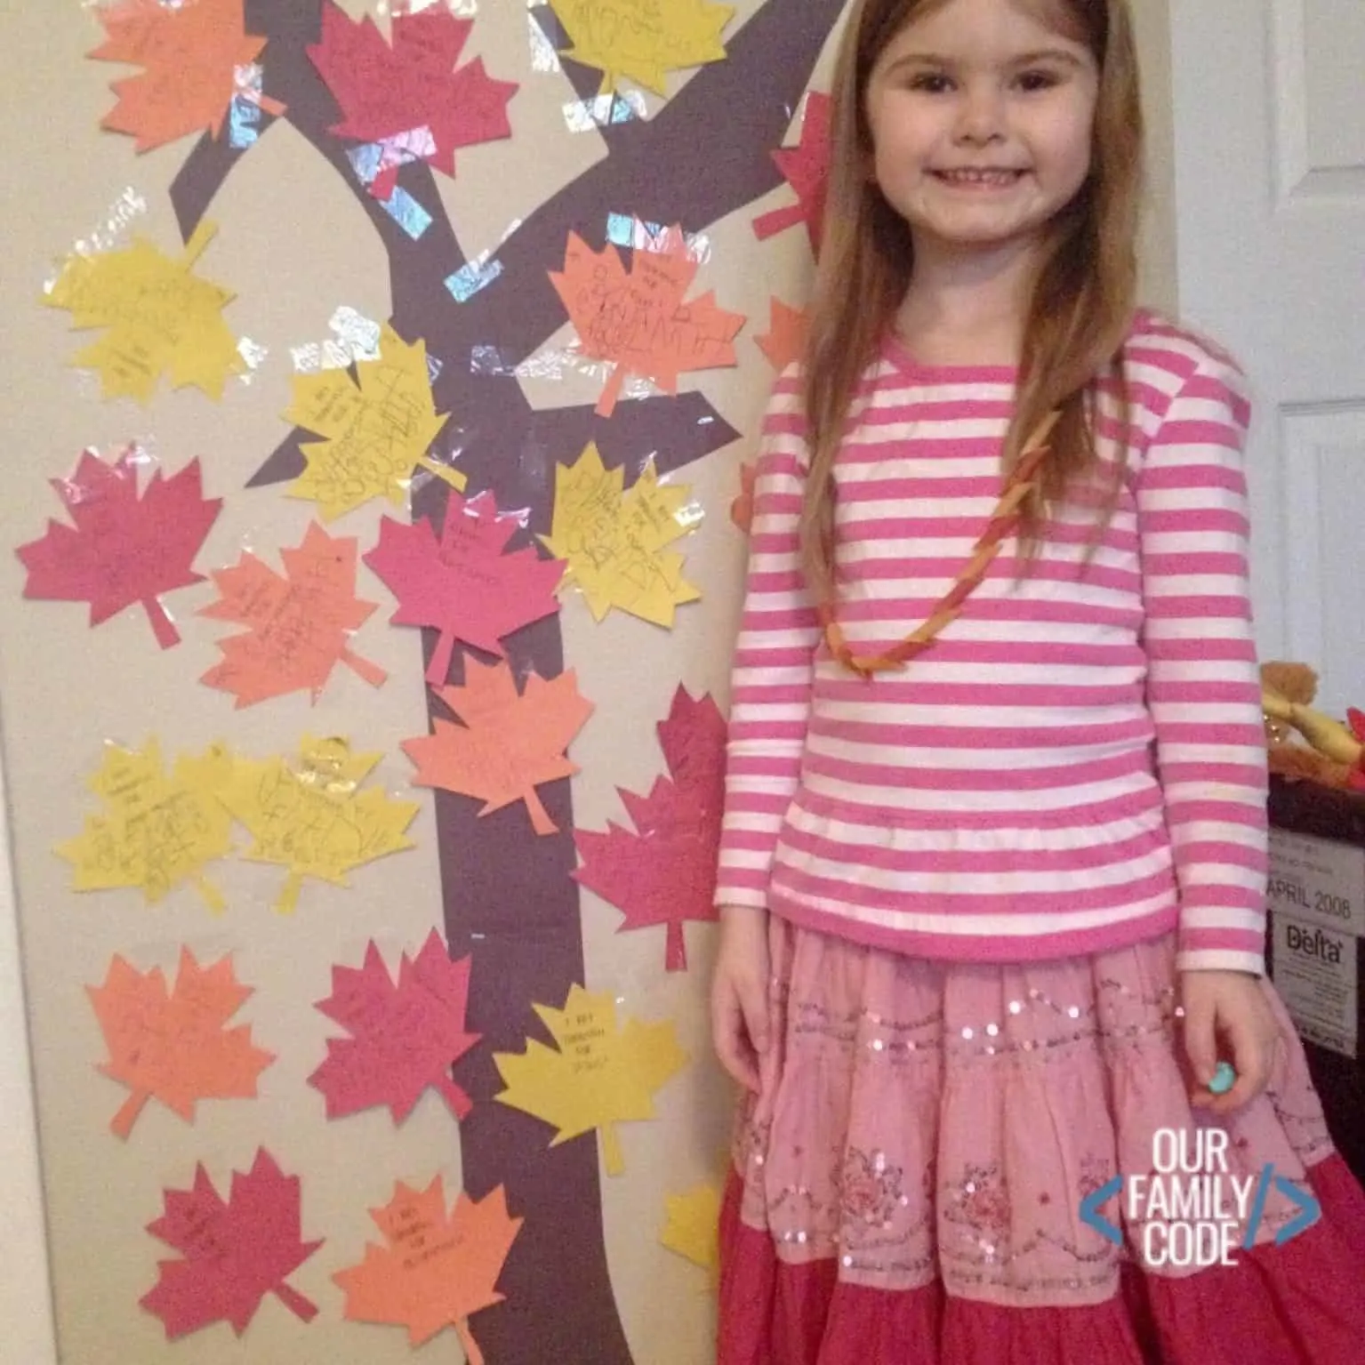
[[[1085,184],[1099,67],[1059,10],[947,0],[878,57],[872,173],[916,254],[1039,243]]]

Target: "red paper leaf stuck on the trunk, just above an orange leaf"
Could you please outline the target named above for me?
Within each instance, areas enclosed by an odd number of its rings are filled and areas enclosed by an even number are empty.
[[[364,562],[399,599],[396,625],[440,627],[427,667],[433,685],[449,676],[456,640],[501,657],[504,636],[560,610],[554,590],[564,564],[542,560],[534,546],[505,553],[520,527],[519,519],[498,516],[491,493],[465,502],[453,489],[440,541],[430,521],[379,523],[379,543]]]

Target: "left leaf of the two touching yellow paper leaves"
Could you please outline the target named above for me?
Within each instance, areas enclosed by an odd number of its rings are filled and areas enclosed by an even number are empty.
[[[203,870],[232,849],[232,819],[218,800],[231,775],[232,755],[222,745],[176,759],[169,774],[156,737],[141,749],[106,745],[86,785],[108,814],[86,816],[85,830],[56,849],[75,864],[75,889],[141,887],[156,905],[187,882],[212,910],[222,910]]]

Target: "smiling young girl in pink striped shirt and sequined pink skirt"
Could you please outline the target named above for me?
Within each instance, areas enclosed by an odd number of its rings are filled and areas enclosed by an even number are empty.
[[[719,1360],[1361,1365],[1263,980],[1248,401],[1133,307],[1126,0],[859,0],[833,98],[734,670]],[[1175,1138],[1204,1213],[1143,1194]]]

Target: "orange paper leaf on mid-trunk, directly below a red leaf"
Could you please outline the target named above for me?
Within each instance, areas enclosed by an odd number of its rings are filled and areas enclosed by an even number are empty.
[[[464,661],[464,687],[437,688],[437,696],[464,722],[435,721],[435,733],[404,740],[403,751],[418,766],[418,786],[475,796],[489,815],[526,801],[536,834],[554,834],[536,786],[573,777],[577,766],[564,751],[592,714],[571,669],[546,681],[532,673],[517,692],[505,661]]]

